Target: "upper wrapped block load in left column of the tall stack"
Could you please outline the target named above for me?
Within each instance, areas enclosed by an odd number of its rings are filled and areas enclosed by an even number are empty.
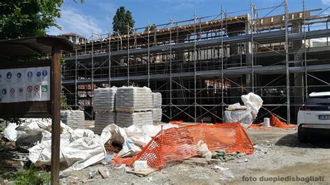
[[[93,109],[95,112],[114,112],[117,87],[99,88],[93,92]]]

